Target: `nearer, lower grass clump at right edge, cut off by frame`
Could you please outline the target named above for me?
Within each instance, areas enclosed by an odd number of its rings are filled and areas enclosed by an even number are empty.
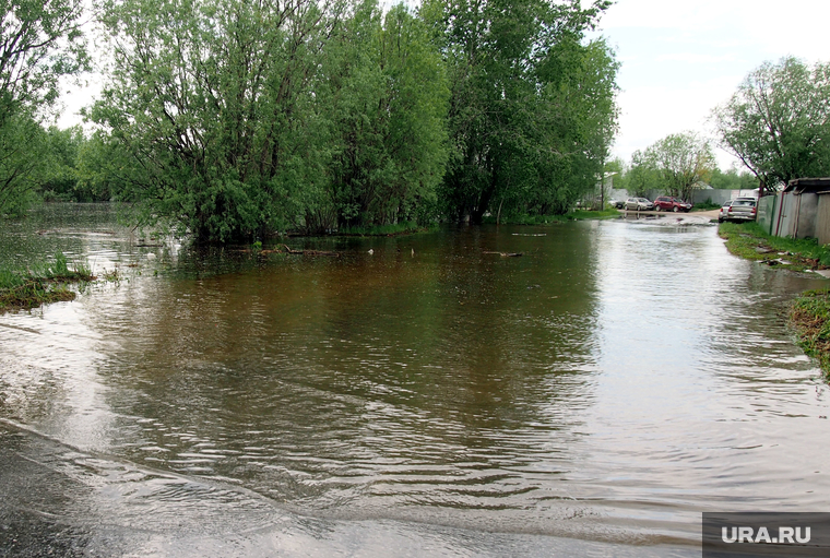
[[[818,360],[825,379],[830,380],[830,289],[807,290],[796,298],[790,323],[798,345]]]

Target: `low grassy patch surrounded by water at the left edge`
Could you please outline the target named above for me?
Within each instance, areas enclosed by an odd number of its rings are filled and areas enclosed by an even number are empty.
[[[0,269],[0,312],[32,309],[44,304],[73,300],[69,283],[94,281],[92,271],[81,263],[69,266],[62,252],[55,261],[27,269]]]

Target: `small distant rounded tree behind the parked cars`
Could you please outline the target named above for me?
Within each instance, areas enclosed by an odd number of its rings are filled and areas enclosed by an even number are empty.
[[[691,190],[708,181],[716,166],[709,142],[695,132],[669,134],[647,147],[642,158],[659,187],[684,200],[691,199]]]

